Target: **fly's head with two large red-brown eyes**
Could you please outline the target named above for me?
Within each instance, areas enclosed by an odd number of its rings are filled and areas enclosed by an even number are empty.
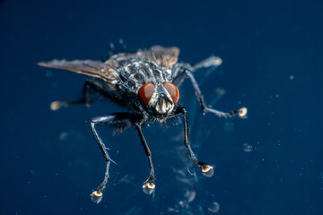
[[[179,89],[171,82],[148,82],[139,89],[138,96],[151,116],[163,120],[170,115],[179,100]]]

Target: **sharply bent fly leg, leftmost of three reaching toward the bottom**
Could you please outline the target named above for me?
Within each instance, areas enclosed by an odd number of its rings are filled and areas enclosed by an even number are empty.
[[[109,116],[98,116],[94,117],[91,120],[91,129],[92,133],[99,145],[99,148],[103,154],[104,159],[107,162],[107,168],[104,174],[104,179],[103,182],[100,184],[100,186],[93,191],[91,194],[92,196],[92,201],[99,203],[102,199],[102,191],[104,190],[106,184],[108,183],[108,178],[109,178],[109,165],[110,162],[114,162],[112,159],[109,157],[108,150],[102,140],[100,139],[99,133],[95,129],[95,125],[130,125],[131,124],[131,119],[132,115],[129,113],[118,113],[118,114],[112,114]]]

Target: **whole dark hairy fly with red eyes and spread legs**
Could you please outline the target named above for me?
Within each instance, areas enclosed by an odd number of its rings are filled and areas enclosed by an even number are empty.
[[[214,113],[217,116],[245,116],[247,108],[224,113],[207,107],[201,90],[193,76],[193,73],[203,67],[218,66],[222,63],[221,58],[211,56],[203,62],[190,65],[178,63],[178,47],[159,47],[154,46],[148,50],[138,50],[136,53],[119,53],[110,56],[105,62],[92,60],[53,60],[50,62],[39,63],[41,66],[62,69],[74,73],[81,73],[96,78],[96,81],[87,80],[83,87],[83,99],[74,101],[55,101],[51,104],[51,109],[67,107],[73,104],[85,103],[89,105],[92,101],[91,90],[99,92],[104,97],[111,99],[123,107],[131,110],[132,113],[116,113],[108,116],[98,116],[91,120],[92,133],[99,144],[107,168],[103,182],[93,191],[92,201],[99,203],[102,198],[102,191],[105,188],[109,177],[109,165],[113,160],[110,159],[108,150],[95,125],[115,125],[118,128],[126,128],[134,125],[144,146],[144,151],[148,157],[150,175],[144,182],[144,193],[153,193],[154,169],[152,153],[144,139],[142,125],[147,120],[166,119],[183,115],[184,118],[184,143],[188,149],[193,162],[200,168],[205,176],[213,176],[213,166],[206,164],[196,158],[192,151],[188,139],[188,116],[187,110],[180,106],[179,85],[185,78],[189,78],[196,91],[196,97],[204,112]]]

